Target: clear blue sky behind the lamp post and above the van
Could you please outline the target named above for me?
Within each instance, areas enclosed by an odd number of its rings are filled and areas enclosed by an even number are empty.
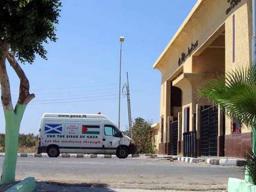
[[[48,60],[23,65],[36,99],[24,114],[21,133],[37,134],[44,112],[97,113],[117,124],[119,37],[125,36],[122,83],[129,72],[132,117],[158,122],[160,71],[152,65],[196,0],[63,0],[56,43],[46,45]],[[8,68],[13,102],[19,81]],[[121,100],[121,129],[128,125]],[[0,132],[4,116],[0,112]]]

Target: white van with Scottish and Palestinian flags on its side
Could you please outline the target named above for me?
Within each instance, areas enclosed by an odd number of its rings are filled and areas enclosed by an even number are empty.
[[[100,113],[47,113],[41,118],[37,152],[47,152],[50,157],[58,157],[63,152],[112,154],[124,159],[134,154],[135,145]]]

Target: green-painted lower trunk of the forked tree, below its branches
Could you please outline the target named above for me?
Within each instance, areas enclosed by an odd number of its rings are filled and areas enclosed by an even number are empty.
[[[5,156],[1,176],[1,184],[10,184],[15,181],[15,170],[18,152],[19,126],[26,109],[26,105],[16,105],[15,110],[4,110],[6,121]]]

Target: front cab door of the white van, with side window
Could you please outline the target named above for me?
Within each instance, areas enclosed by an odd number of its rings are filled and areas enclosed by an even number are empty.
[[[116,154],[116,148],[119,146],[119,130],[114,125],[104,125],[103,145],[105,154]]]

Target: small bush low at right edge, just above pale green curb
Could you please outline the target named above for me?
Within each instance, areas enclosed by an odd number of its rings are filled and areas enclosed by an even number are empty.
[[[245,169],[247,169],[249,175],[253,179],[254,185],[256,185],[256,154],[252,152],[252,149],[248,149],[244,155]]]

